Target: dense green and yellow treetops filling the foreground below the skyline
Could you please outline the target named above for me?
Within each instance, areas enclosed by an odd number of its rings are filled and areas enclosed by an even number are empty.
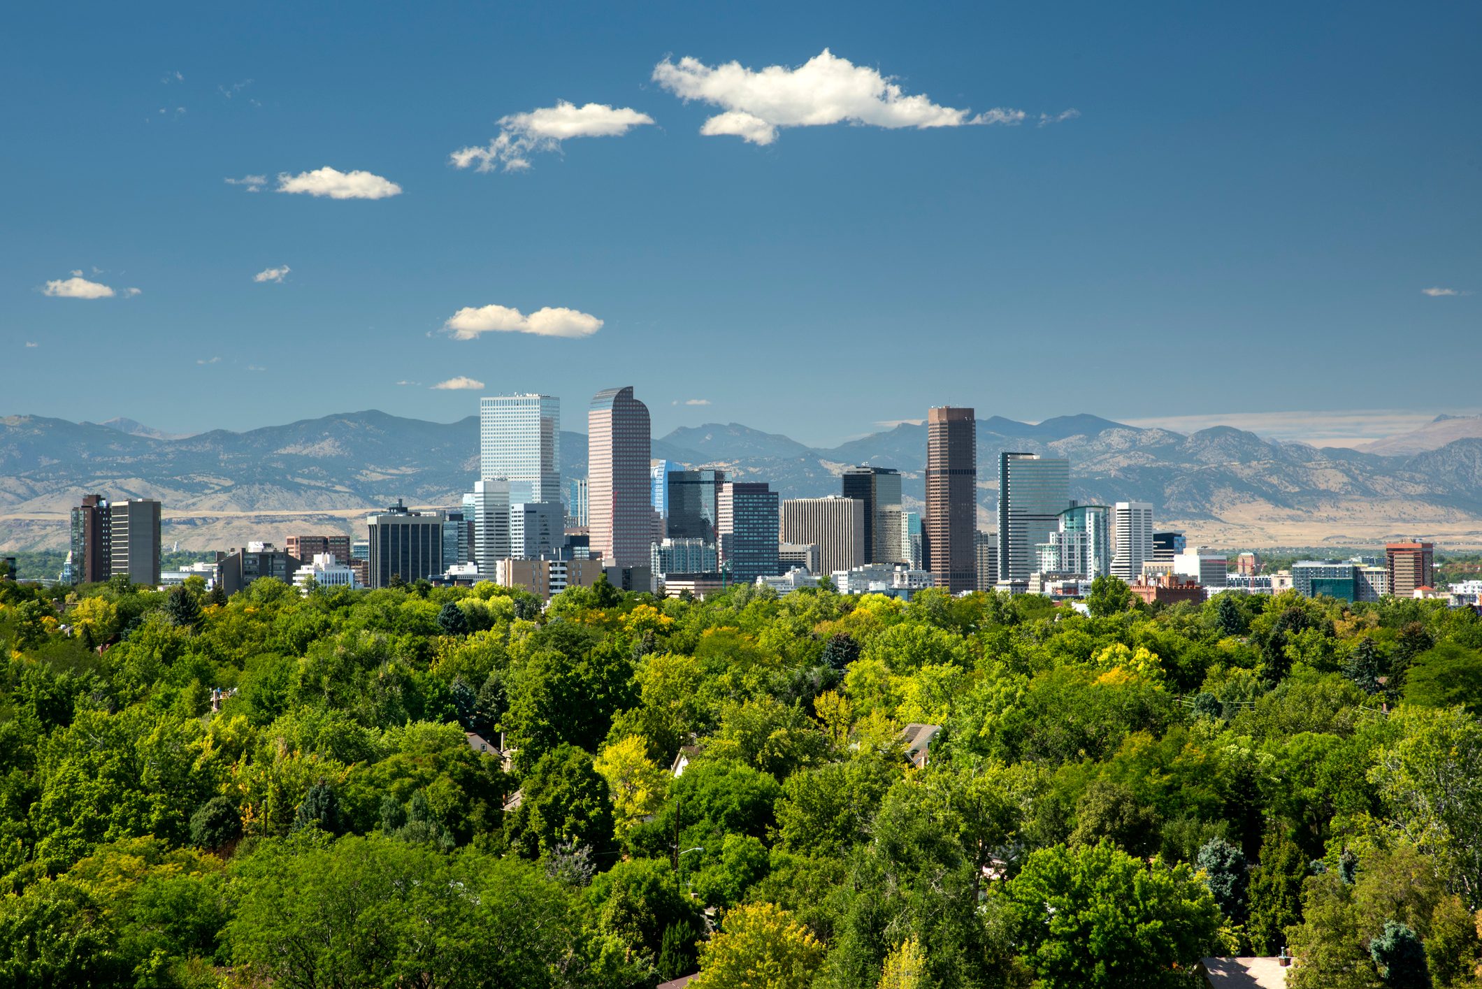
[[[0,584],[0,985],[1482,985],[1482,618],[1088,603]]]

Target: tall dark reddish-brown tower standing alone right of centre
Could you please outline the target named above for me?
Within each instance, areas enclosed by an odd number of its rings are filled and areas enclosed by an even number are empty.
[[[926,516],[922,556],[938,587],[975,590],[978,555],[978,423],[972,409],[937,406],[926,414]]]

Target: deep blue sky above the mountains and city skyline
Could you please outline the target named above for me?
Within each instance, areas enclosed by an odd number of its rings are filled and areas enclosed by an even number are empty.
[[[633,384],[655,434],[831,443],[940,403],[1479,405],[1482,7],[917,6],[18,7],[0,414],[538,390],[584,429]],[[825,49],[848,65],[791,73]],[[542,141],[568,126],[606,136]],[[453,163],[501,130],[495,171]]]

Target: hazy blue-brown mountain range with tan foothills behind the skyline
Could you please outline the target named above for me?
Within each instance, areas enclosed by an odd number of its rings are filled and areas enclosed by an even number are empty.
[[[1427,534],[1482,544],[1482,430],[1438,420],[1380,451],[1315,448],[1214,427],[1184,434],[1067,415],[978,420],[980,528],[991,528],[1003,449],[1067,457],[1071,497],[1150,501],[1160,525],[1215,546],[1359,544]],[[1438,429],[1432,429],[1438,427]],[[245,433],[170,436],[132,420],[104,424],[0,418],[0,549],[65,546],[67,510],[87,492],[165,503],[166,540],[205,549],[274,538],[292,522],[351,531],[366,509],[456,504],[477,474],[479,423],[428,423],[366,411]],[[1383,452],[1393,449],[1396,452]],[[851,464],[901,470],[908,506],[923,498],[926,427],[903,423],[818,449],[747,426],[682,427],[655,458],[768,480],[782,497],[834,494]],[[563,477],[582,477],[587,439],[562,431]],[[256,526],[256,528],[253,528]]]

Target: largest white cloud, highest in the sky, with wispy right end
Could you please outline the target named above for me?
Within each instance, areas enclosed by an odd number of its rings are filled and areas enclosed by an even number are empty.
[[[780,128],[861,123],[876,128],[960,128],[1021,123],[1023,110],[996,108],[972,116],[926,96],[908,96],[879,70],[855,65],[828,49],[797,68],[741,62],[705,65],[697,58],[654,67],[654,82],[685,102],[698,99],[725,113],[705,120],[704,135],[728,133],[751,144],[771,144]]]

